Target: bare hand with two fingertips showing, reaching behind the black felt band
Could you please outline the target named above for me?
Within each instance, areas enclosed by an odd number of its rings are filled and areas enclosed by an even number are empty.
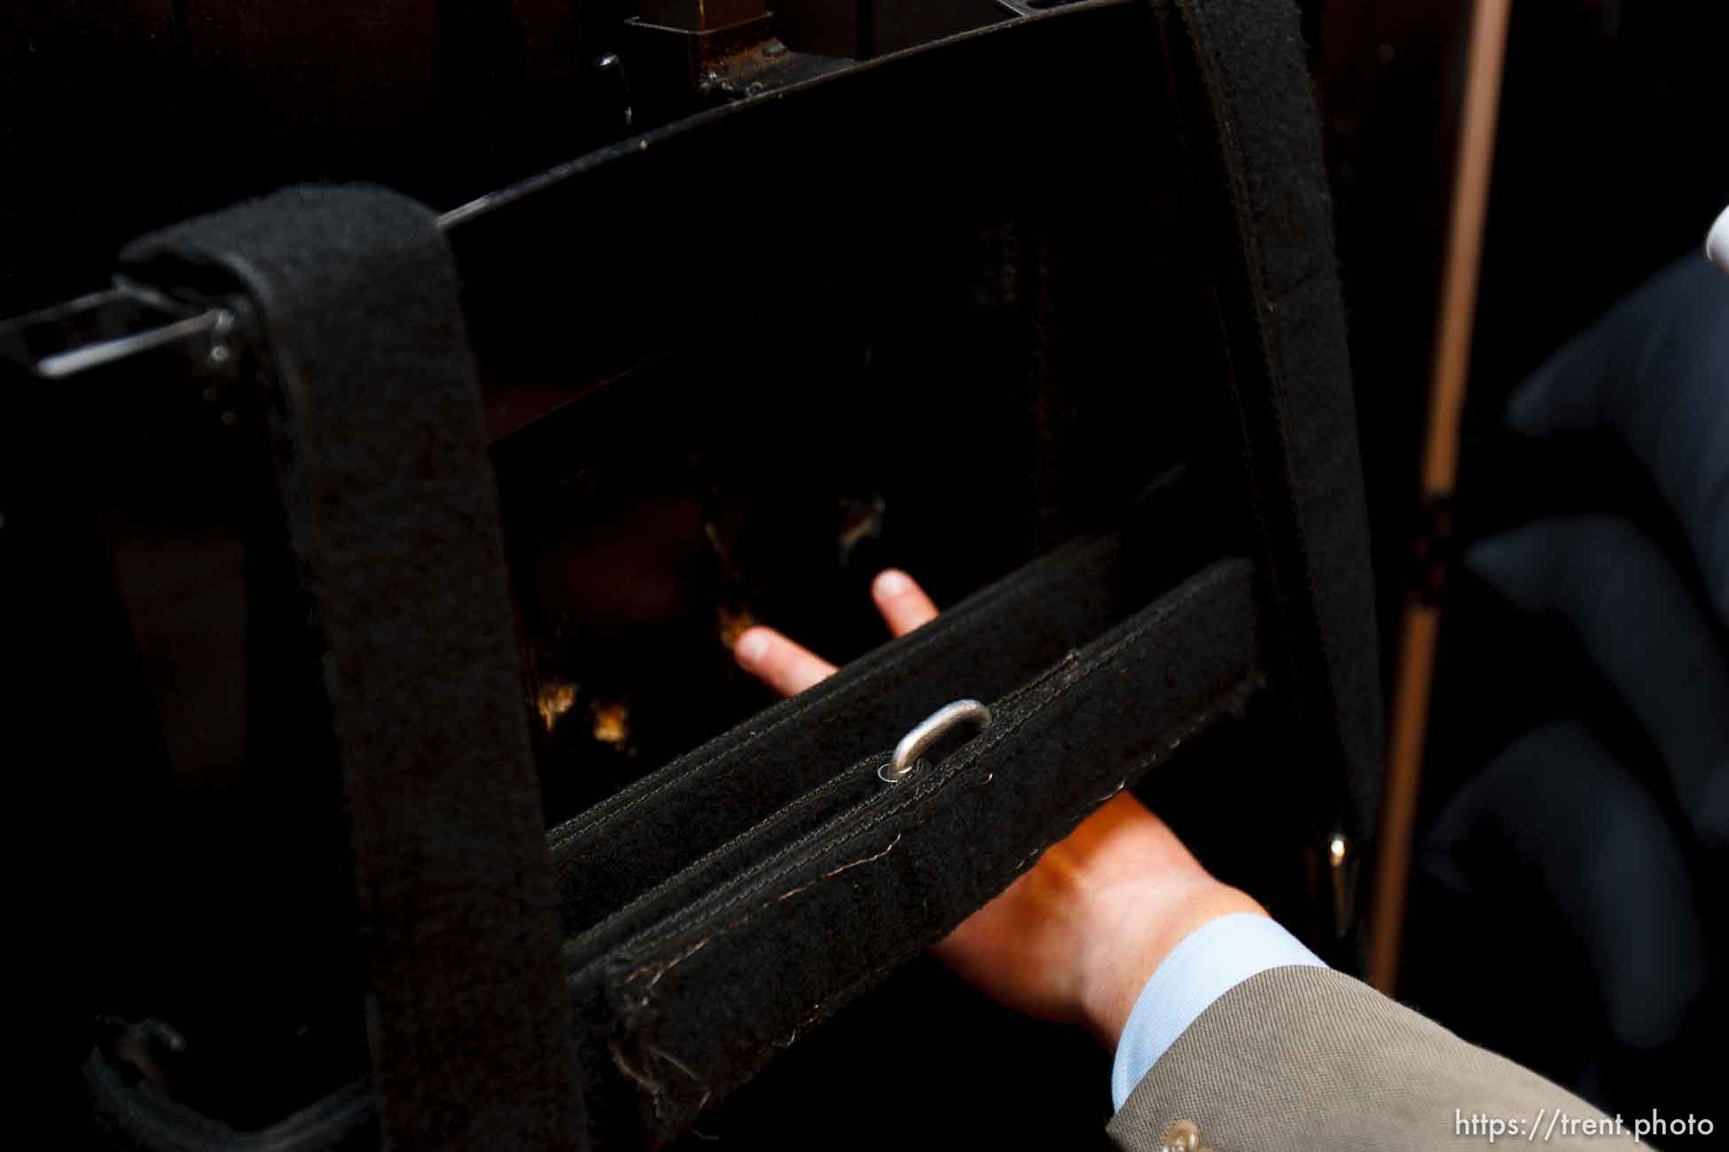
[[[871,582],[871,599],[894,636],[937,615],[923,589],[894,568]],[[740,636],[733,656],[783,696],[835,672],[766,627]],[[999,1003],[1081,1024],[1115,1048],[1158,964],[1196,927],[1233,912],[1266,915],[1215,881],[1146,805],[1119,793],[932,955]]]

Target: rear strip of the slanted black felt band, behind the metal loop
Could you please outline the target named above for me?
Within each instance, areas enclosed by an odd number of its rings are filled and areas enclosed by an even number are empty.
[[[726,748],[716,741],[721,755],[699,753],[688,770],[679,762],[647,777],[654,786],[633,789],[640,803],[583,831],[586,867],[562,860],[567,889],[581,889],[597,872],[624,874],[635,860],[654,869],[635,877],[629,900],[607,905],[605,919],[567,917],[567,960],[579,964],[617,946],[877,794],[877,769],[887,762],[882,750],[939,706],[960,696],[1010,696],[1107,632],[1115,622],[1108,608],[1120,601],[1120,592],[1110,594],[1110,577],[1126,573],[1122,551],[1117,537],[1058,549],[782,701],[750,725],[749,743]],[[749,798],[801,781],[807,789],[776,807],[730,794]],[[692,812],[705,819],[693,820]]]

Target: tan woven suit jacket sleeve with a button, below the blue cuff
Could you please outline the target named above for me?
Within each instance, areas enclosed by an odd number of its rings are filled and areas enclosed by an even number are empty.
[[[1198,1126],[1212,1152],[1487,1149],[1475,1116],[1522,1124],[1497,1149],[1636,1147],[1630,1131],[1587,1135],[1587,1117],[1611,1121],[1579,1097],[1319,967],[1271,969],[1219,997],[1108,1131],[1126,1152],[1158,1152],[1176,1121]]]

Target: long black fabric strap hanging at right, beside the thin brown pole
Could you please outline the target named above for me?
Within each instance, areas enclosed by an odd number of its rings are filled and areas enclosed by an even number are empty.
[[[1368,513],[1333,264],[1331,200],[1295,5],[1155,0],[1191,149],[1217,206],[1215,285],[1273,601],[1273,684],[1317,767],[1317,832],[1375,827],[1381,713]],[[1324,767],[1321,767],[1324,765]],[[1330,794],[1321,782],[1337,781]]]

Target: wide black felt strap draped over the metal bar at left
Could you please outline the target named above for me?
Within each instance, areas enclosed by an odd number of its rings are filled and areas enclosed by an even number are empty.
[[[261,318],[348,779],[387,1143],[572,1147],[581,1097],[527,694],[434,216],[382,188],[290,188],[123,259],[168,290],[244,292]]]

